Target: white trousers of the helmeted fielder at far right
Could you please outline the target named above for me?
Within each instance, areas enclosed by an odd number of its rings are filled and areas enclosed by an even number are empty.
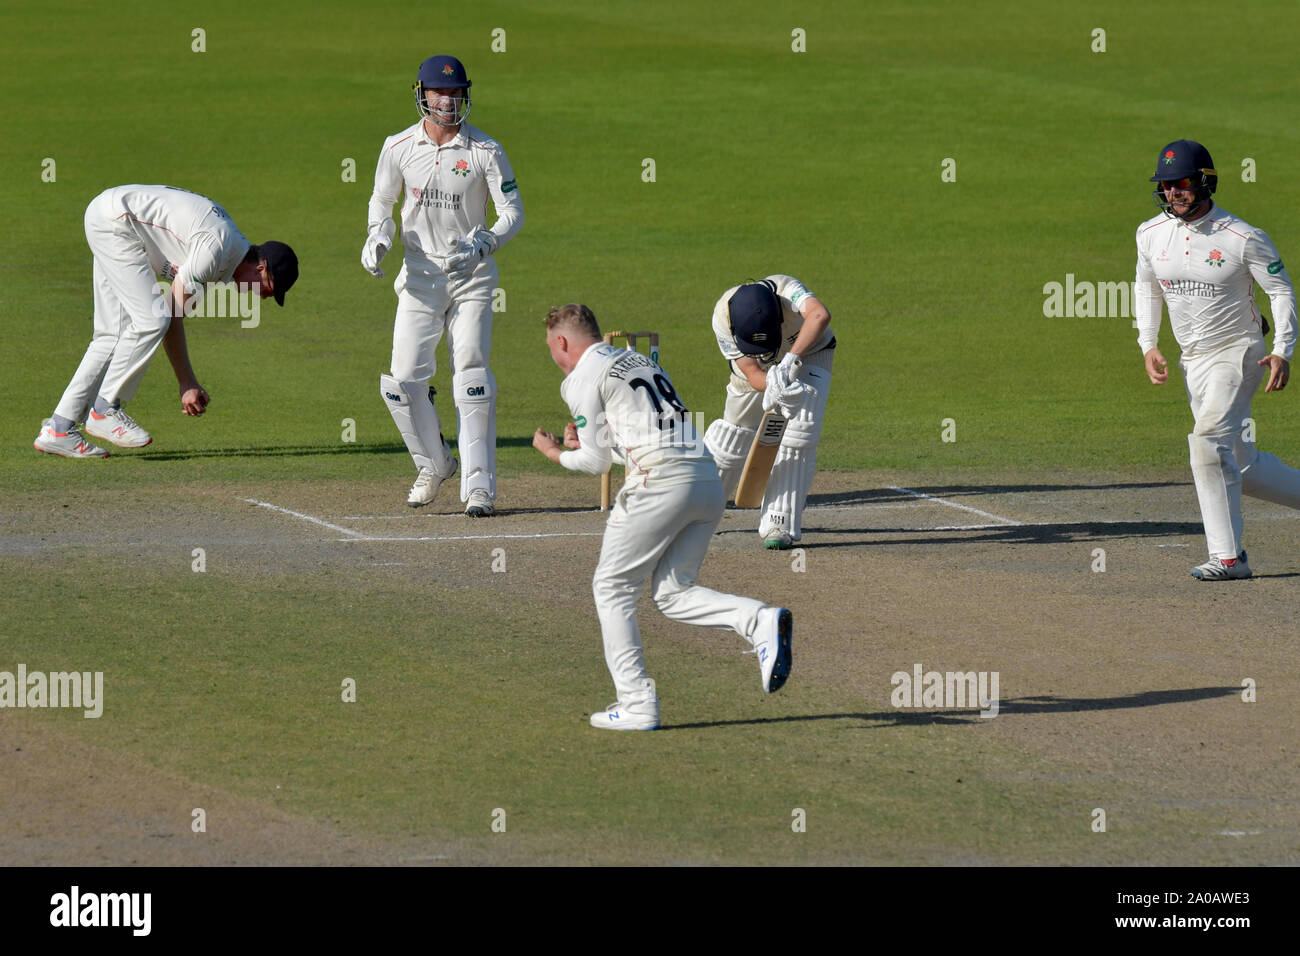
[[[1260,451],[1251,399],[1268,381],[1264,338],[1251,336],[1208,355],[1180,359],[1196,425],[1187,436],[1192,479],[1210,555],[1235,558],[1242,548],[1242,493],[1300,509],[1300,471]]]

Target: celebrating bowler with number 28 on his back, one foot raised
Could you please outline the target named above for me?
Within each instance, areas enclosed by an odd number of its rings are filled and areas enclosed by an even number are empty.
[[[640,352],[602,342],[586,306],[552,308],[546,345],[564,372],[560,395],[573,421],[564,427],[563,442],[538,428],[533,446],[588,475],[608,471],[615,458],[627,467],[592,581],[618,700],[592,714],[592,726],[659,726],[659,700],[637,628],[646,580],[664,615],[741,635],[758,654],[763,692],[780,689],[790,674],[790,611],[696,584],[725,498],[718,468],[667,372]]]

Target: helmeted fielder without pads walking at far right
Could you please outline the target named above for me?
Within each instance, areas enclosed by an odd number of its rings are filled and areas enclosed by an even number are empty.
[[[1182,349],[1179,367],[1196,424],[1187,436],[1209,561],[1202,581],[1251,576],[1242,546],[1242,493],[1300,509],[1300,471],[1254,446],[1251,399],[1280,392],[1291,377],[1296,297],[1273,241],[1214,204],[1218,173],[1209,151],[1179,139],[1160,151],[1152,193],[1161,213],[1138,226],[1138,345],[1154,385],[1169,380],[1158,347],[1161,299]],[[1253,282],[1273,307],[1268,324]]]

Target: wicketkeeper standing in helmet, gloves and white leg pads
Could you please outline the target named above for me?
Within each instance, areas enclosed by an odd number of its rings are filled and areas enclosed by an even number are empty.
[[[433,501],[458,462],[442,438],[429,378],[443,333],[451,362],[451,392],[460,446],[460,499],[465,514],[485,518],[497,501],[497,380],[491,356],[493,254],[524,225],[524,203],[500,144],[465,120],[469,77],[454,56],[420,64],[415,85],[420,121],[389,137],[374,169],[369,235],[361,265],[382,277],[393,246],[393,204],[402,203],[402,269],[393,284],[391,373],[380,392],[419,471],[407,505]],[[488,198],[497,221],[488,228]]]

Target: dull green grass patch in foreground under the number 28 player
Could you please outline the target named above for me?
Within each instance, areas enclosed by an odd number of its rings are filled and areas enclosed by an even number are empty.
[[[237,574],[207,593],[192,578],[130,589],[169,609],[166,639],[108,611],[94,633],[61,641],[61,657],[113,676],[103,718],[51,719],[107,748],[147,748],[190,779],[372,834],[430,848],[471,836],[491,852],[502,808],[512,849],[538,860],[774,862],[771,836],[758,834],[784,830],[788,862],[887,862],[974,849],[980,832],[1037,844],[1067,805],[1065,787],[1010,792],[1001,777],[1015,756],[978,734],[954,752],[940,734],[871,732],[875,721],[855,717],[861,700],[807,687],[755,709],[753,658],[651,653],[688,726],[597,734],[582,717],[603,706],[593,693],[606,693],[608,676],[592,610],[502,611],[490,596],[432,588],[424,600],[454,610],[430,622],[396,581],[341,601],[332,575]],[[228,587],[247,600],[231,606]],[[103,593],[75,584],[56,596],[49,613],[29,615],[32,636],[10,641],[17,659],[49,659],[35,635],[57,631],[69,605],[103,606]],[[266,627],[250,632],[248,620]],[[343,678],[356,682],[355,706],[339,702]],[[957,787],[962,805],[945,809]],[[781,825],[796,808],[812,819],[798,836]],[[993,825],[1004,810],[1013,827]],[[913,816],[932,818],[919,840]]]

